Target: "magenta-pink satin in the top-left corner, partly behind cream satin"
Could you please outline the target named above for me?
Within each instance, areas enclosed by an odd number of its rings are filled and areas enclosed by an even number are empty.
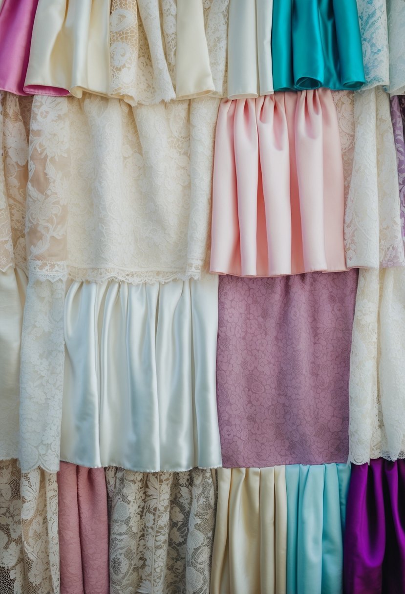
[[[0,90],[16,95],[39,92],[37,87],[24,91],[37,4],[38,0],[4,0],[0,7]],[[40,92],[61,94],[54,87],[40,87]]]

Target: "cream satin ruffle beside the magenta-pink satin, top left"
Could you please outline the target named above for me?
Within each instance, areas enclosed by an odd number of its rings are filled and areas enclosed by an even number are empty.
[[[26,93],[108,94],[110,0],[39,0]]]

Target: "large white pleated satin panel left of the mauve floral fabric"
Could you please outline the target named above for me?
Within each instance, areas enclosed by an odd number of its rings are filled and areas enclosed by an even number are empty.
[[[61,459],[154,472],[221,465],[218,277],[72,282]]]

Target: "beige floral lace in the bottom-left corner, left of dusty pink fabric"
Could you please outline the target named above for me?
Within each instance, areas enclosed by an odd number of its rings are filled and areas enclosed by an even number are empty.
[[[56,476],[0,462],[0,590],[59,594]]]

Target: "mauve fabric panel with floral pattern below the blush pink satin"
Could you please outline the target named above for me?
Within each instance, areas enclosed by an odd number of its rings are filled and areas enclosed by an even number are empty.
[[[220,278],[223,466],[346,462],[356,286],[356,270]]]

